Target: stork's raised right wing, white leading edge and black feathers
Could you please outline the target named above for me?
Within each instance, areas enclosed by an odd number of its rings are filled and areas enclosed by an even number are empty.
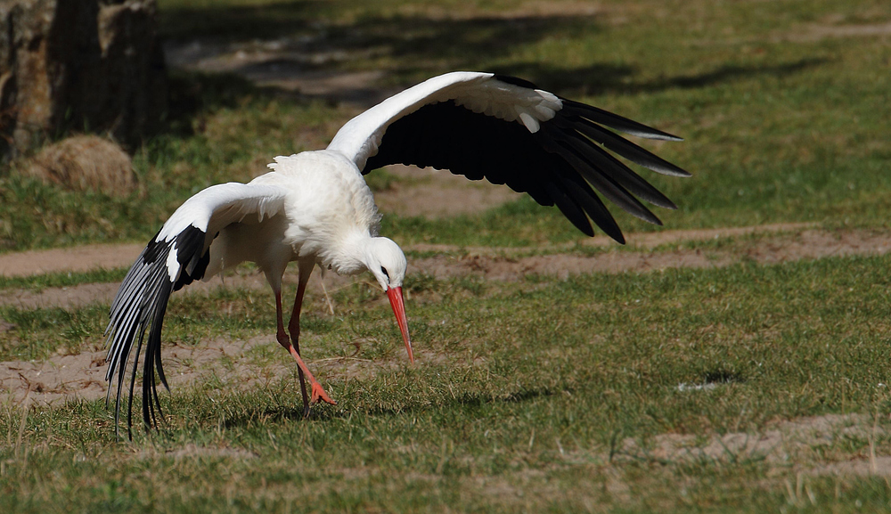
[[[660,174],[690,174],[603,126],[682,141],[519,78],[462,71],[430,78],[366,110],[348,121],[328,148],[347,155],[363,174],[402,163],[507,184],[542,205],[556,204],[583,233],[593,235],[590,217],[624,243],[593,189],[653,224],[662,223],[638,198],[676,206],[604,148]]]

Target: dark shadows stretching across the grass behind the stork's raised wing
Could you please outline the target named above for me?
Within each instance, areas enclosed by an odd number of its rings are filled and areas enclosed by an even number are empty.
[[[352,20],[340,21],[337,9],[354,8],[343,2],[291,1],[261,6],[214,5],[161,9],[160,32],[168,41],[202,48],[251,48],[274,44],[267,58],[235,65],[233,74],[199,75],[179,73],[171,87],[170,131],[188,134],[192,118],[202,110],[232,107],[245,96],[281,97],[295,102],[323,98],[331,101],[362,99],[370,107],[382,97],[370,94],[413,84],[453,69],[479,69],[516,75],[565,96],[587,94],[655,93],[674,88],[701,88],[752,77],[784,77],[819,66],[821,59],[803,59],[780,64],[728,64],[696,75],[664,77],[635,82],[633,66],[595,64],[567,69],[560,62],[530,61],[493,67],[494,61],[510,61],[518,48],[553,37],[582,38],[601,30],[599,16],[575,15],[482,15],[469,19],[442,19],[423,14],[399,15],[386,8],[354,12]],[[203,50],[202,50],[203,51]],[[253,86],[242,78],[298,78],[361,70],[383,72],[371,82],[347,86],[337,94],[293,94],[276,87]],[[241,76],[241,77],[239,77]]]

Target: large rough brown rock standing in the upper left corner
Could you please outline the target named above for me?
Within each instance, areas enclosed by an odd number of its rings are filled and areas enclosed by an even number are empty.
[[[0,2],[0,156],[85,127],[133,149],[166,84],[154,0]]]

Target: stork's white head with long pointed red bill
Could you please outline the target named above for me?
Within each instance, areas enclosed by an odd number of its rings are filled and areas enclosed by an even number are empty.
[[[375,237],[365,247],[365,267],[378,279],[380,287],[387,292],[396,323],[405,341],[408,358],[414,362],[412,339],[408,337],[408,320],[405,318],[405,298],[402,296],[402,281],[405,280],[405,254],[395,242],[385,237]]]

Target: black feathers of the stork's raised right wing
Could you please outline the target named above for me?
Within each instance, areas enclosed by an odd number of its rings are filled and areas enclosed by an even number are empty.
[[[535,88],[519,78],[495,78]],[[659,207],[676,208],[674,203],[601,145],[658,173],[690,174],[598,124],[650,139],[680,138],[584,103],[560,101],[563,109],[542,122],[535,133],[520,123],[476,113],[454,101],[425,105],[388,126],[378,152],[367,159],[362,173],[401,163],[448,169],[470,180],[486,178],[528,192],[542,205],[556,205],[585,234],[593,235],[590,217],[610,237],[624,242],[593,186],[625,211],[661,224],[635,195]]]

